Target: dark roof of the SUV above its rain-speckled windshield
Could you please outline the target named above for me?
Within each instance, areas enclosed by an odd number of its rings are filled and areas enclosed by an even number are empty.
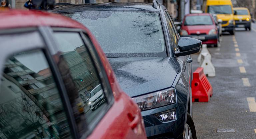
[[[139,11],[160,11],[159,4],[155,9],[152,3],[140,2],[111,2],[111,3],[88,3],[61,6],[52,9],[56,13],[78,12],[78,11],[109,11],[109,10],[139,10]]]

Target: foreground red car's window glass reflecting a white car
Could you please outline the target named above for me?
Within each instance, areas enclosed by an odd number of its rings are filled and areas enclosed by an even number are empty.
[[[55,32],[54,37],[59,50],[56,54],[58,67],[82,136],[86,132],[86,123],[97,122],[94,120],[107,105],[99,72],[79,33]]]

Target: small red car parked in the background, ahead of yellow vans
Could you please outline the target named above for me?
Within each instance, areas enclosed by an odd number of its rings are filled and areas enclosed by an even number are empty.
[[[209,13],[188,14],[182,22],[180,36],[192,37],[202,41],[202,44],[218,47],[219,35],[217,24]]]

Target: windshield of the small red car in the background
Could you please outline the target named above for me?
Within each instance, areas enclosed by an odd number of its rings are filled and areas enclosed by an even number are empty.
[[[194,25],[213,25],[212,18],[209,15],[204,16],[187,16],[184,22],[184,26]]]

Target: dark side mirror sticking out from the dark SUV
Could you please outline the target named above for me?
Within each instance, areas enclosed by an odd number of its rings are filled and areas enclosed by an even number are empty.
[[[200,40],[190,37],[181,37],[178,41],[180,52],[176,52],[175,56],[187,56],[198,53],[200,51],[201,45],[202,41]]]

